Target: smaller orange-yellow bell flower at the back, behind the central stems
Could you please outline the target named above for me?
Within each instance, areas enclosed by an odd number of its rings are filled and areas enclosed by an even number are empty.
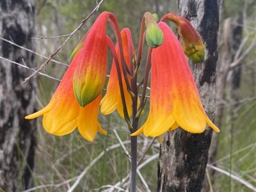
[[[122,45],[123,45],[123,50],[124,50],[124,59],[125,63],[129,65],[131,61],[130,54],[134,55],[134,47],[133,43],[131,40],[131,33],[129,29],[125,28],[121,31],[121,37],[122,37]],[[129,46],[130,45],[130,46]],[[129,52],[129,49],[130,52]],[[124,87],[124,97],[125,97],[125,103],[127,107],[127,112],[129,117],[132,115],[132,98],[131,94],[127,91],[127,85],[125,84],[124,80],[124,73],[122,69],[122,64],[121,64],[121,57],[120,57],[120,49],[118,44],[116,44],[116,54],[118,57],[118,64],[120,66],[121,74],[122,74],[122,84]],[[128,77],[129,83],[131,82],[131,77]],[[140,100],[138,100],[140,101]],[[123,105],[122,105],[122,98],[120,94],[120,87],[119,87],[119,82],[118,82],[118,75],[116,71],[116,64],[115,60],[113,59],[112,63],[112,68],[110,71],[110,76],[109,76],[109,81],[108,81],[108,86],[107,86],[107,92],[102,101],[100,102],[100,112],[104,115],[108,115],[113,113],[115,110],[117,110],[118,114],[120,117],[124,118],[124,110],[123,110]],[[138,103],[140,105],[140,103]]]

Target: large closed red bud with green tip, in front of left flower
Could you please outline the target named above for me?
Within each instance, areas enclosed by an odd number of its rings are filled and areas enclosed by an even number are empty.
[[[82,107],[95,100],[105,84],[108,62],[106,34],[108,18],[109,12],[103,12],[95,20],[76,64],[73,78],[74,94]]]

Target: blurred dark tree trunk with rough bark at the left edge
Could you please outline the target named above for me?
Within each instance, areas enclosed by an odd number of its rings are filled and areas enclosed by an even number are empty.
[[[1,0],[1,37],[33,50],[35,37],[35,5],[33,0]],[[36,82],[22,84],[31,75],[14,61],[35,68],[34,55],[0,40],[0,188],[23,191],[33,186],[31,171],[36,147],[36,120],[25,115],[36,111]]]

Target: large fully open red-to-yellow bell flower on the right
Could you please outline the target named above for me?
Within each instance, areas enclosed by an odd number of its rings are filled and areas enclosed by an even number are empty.
[[[150,112],[143,126],[131,136],[144,133],[156,137],[180,128],[202,133],[206,124],[220,132],[207,117],[200,101],[188,61],[170,27],[159,22],[163,44],[152,50]]]

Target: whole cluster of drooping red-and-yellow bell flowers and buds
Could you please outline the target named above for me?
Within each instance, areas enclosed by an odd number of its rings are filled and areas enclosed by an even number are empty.
[[[177,26],[182,45],[163,22],[165,19]],[[116,45],[106,33],[107,24],[115,33]],[[151,67],[150,112],[145,124],[136,130],[130,119],[135,121],[143,112],[149,74],[146,70],[143,82],[136,82],[144,40],[150,47],[146,67]],[[107,91],[101,100],[107,75],[108,47],[113,54],[113,63]],[[219,132],[205,113],[185,55],[194,63],[204,61],[204,44],[185,18],[169,13],[157,24],[154,15],[145,13],[136,56],[129,29],[120,31],[115,15],[103,12],[72,53],[72,62],[49,104],[25,118],[44,115],[43,126],[47,132],[67,135],[77,128],[90,142],[97,131],[107,134],[97,120],[99,108],[104,115],[117,110],[131,128],[131,136],[144,133],[147,137],[156,137],[178,127],[190,133],[202,133],[206,124]],[[140,99],[138,90],[142,84]]]

